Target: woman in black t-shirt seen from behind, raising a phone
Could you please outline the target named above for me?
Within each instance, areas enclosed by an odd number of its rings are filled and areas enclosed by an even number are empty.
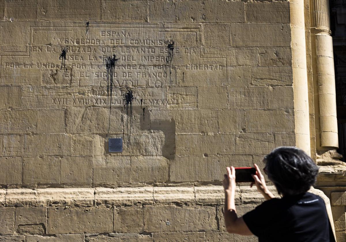
[[[263,161],[266,163],[264,172],[282,198],[274,198],[255,164],[257,172],[253,175],[254,184],[266,201],[238,217],[234,204],[235,169],[233,166],[227,167],[223,181],[227,232],[254,234],[259,242],[334,242],[323,199],[307,192],[315,184],[318,175],[315,162],[295,147],[276,148]]]

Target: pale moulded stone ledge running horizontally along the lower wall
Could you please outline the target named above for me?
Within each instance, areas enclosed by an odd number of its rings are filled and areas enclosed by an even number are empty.
[[[274,194],[274,186],[268,187]],[[263,196],[256,187],[237,187],[235,202],[261,204]],[[1,207],[42,206],[129,206],[224,203],[222,186],[119,187],[119,188],[44,188],[0,189]]]

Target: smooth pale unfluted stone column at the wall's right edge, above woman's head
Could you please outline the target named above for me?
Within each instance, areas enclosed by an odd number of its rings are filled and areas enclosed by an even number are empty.
[[[290,1],[296,146],[310,154],[309,97],[306,65],[304,1]]]

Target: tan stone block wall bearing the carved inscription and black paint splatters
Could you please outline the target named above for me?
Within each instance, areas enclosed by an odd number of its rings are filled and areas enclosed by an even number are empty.
[[[254,239],[224,232],[218,189],[296,143],[289,1],[1,1],[0,19],[0,241]]]

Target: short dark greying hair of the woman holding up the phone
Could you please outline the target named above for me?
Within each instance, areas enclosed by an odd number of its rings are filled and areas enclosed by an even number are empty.
[[[307,192],[315,184],[318,166],[301,149],[278,147],[265,158],[265,172],[284,196]]]

